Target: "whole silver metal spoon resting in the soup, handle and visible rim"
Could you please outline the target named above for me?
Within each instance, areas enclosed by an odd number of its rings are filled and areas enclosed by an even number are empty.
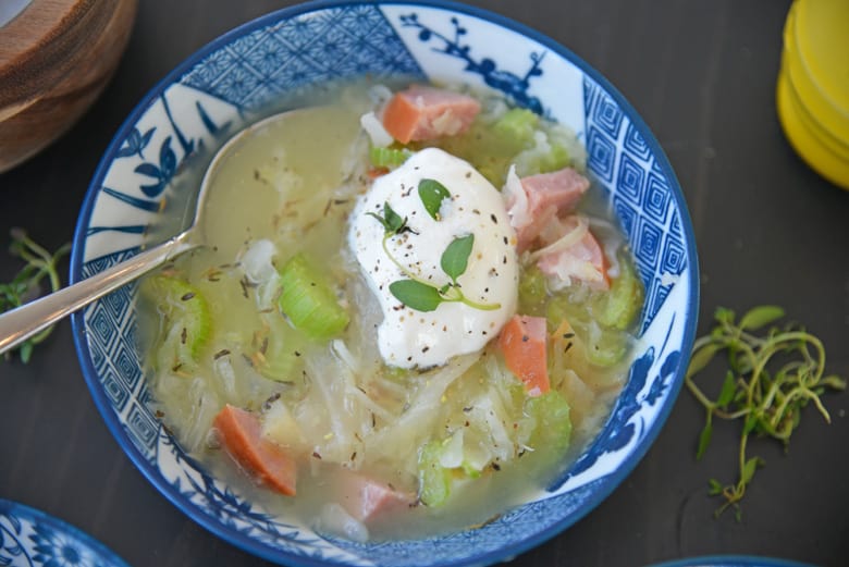
[[[96,273],[82,282],[0,315],[0,355],[16,347],[27,338],[36,335],[65,316],[85,307],[95,299],[140,278],[188,250],[204,246],[204,208],[207,192],[216,176],[218,167],[227,157],[230,150],[245,136],[268,126],[272,122],[283,120],[293,112],[295,111],[273,114],[248,126],[235,134],[216,152],[204,174],[200,190],[195,202],[194,217],[186,230],[173,238],[144,250],[128,260]]]

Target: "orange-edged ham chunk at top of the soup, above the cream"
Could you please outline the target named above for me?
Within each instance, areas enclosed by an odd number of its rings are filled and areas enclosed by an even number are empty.
[[[455,136],[480,112],[475,98],[452,90],[414,85],[396,93],[383,109],[383,127],[402,144]]]

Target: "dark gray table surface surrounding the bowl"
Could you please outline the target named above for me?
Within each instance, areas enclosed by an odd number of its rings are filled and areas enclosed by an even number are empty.
[[[70,241],[100,156],[142,96],[219,34],[291,3],[142,0],[128,50],[99,101],[58,143],[0,175],[0,243],[12,226],[51,248]],[[829,369],[849,377],[849,193],[805,167],[776,118],[788,0],[470,3],[571,49],[655,133],[694,224],[700,334],[717,306],[778,304],[822,337]],[[0,279],[16,268],[0,250]],[[847,396],[826,396],[830,426],[809,412],[788,454],[775,443],[754,444],[767,465],[736,522],[733,515],[713,519],[706,480],[735,473],[737,430],[718,427],[697,463],[703,416],[682,391],[620,486],[513,565],[640,566],[729,553],[846,565]],[[67,321],[28,365],[0,361],[0,497],[79,527],[134,566],[264,565],[195,525],[131,465],[91,402]]]

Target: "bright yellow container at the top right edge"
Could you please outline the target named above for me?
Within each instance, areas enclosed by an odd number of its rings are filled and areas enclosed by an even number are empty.
[[[797,153],[849,189],[849,0],[795,0],[776,102]]]

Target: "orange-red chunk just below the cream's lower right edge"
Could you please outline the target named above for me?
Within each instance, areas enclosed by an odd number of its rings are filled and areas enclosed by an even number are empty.
[[[521,315],[513,316],[499,335],[499,348],[507,368],[525,383],[531,396],[551,389],[546,340],[545,318]]]

